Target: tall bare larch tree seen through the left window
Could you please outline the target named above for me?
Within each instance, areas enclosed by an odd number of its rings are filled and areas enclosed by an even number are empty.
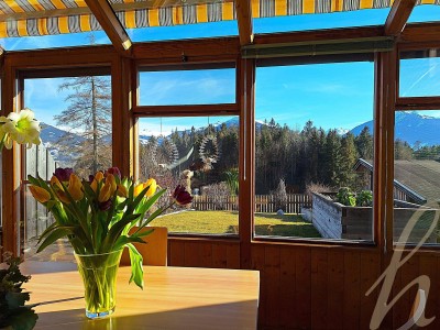
[[[58,90],[72,91],[65,99],[67,108],[54,119],[56,124],[69,128],[58,144],[75,155],[75,170],[87,176],[100,168],[110,167],[110,79],[98,76],[68,78],[59,85]],[[75,136],[78,143],[72,145]]]

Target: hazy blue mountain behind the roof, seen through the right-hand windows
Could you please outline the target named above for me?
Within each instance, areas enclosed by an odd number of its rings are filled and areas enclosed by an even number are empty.
[[[359,135],[364,127],[373,133],[373,121],[367,121],[351,130],[354,135]],[[420,142],[421,145],[440,144],[440,118],[421,116],[415,111],[397,111],[395,117],[396,139],[415,145]]]

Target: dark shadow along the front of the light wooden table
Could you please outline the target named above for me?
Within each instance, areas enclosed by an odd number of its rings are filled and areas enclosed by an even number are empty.
[[[84,309],[61,310],[40,312],[35,329],[256,329],[256,300],[246,300],[118,317],[117,307],[113,316],[100,320],[86,319]]]

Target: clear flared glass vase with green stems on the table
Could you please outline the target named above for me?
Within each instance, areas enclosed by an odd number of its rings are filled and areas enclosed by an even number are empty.
[[[116,280],[123,250],[102,254],[75,254],[81,274],[86,316],[90,319],[113,314]]]

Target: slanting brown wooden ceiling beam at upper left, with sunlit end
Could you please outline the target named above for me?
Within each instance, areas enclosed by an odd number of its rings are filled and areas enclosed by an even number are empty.
[[[85,0],[101,28],[122,55],[131,53],[132,42],[108,0]]]

